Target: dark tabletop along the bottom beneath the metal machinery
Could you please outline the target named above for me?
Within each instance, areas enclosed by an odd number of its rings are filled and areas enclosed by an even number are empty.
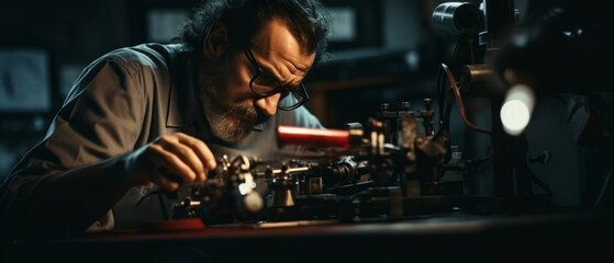
[[[399,221],[165,225],[15,240],[10,262],[518,262],[607,256],[613,217],[439,214]],[[174,226],[175,229],[168,228]]]

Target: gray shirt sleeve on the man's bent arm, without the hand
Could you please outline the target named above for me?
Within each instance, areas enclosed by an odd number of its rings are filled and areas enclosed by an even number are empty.
[[[133,78],[136,73],[113,57],[101,58],[83,70],[45,138],[2,183],[1,219],[9,220],[2,227],[36,216],[25,201],[45,179],[133,149],[144,104]]]

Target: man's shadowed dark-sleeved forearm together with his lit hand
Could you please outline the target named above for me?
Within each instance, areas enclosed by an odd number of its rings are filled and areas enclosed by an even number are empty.
[[[185,134],[163,136],[127,155],[47,176],[24,204],[29,215],[11,221],[33,235],[81,232],[132,186],[153,182],[175,191],[179,183],[168,173],[182,182],[203,182],[213,169],[213,155],[201,140]]]

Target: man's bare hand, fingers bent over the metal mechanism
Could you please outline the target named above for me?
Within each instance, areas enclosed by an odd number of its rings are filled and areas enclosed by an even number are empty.
[[[206,172],[216,165],[202,140],[182,133],[160,136],[125,156],[127,176],[136,185],[153,182],[168,191],[181,183],[204,182]]]

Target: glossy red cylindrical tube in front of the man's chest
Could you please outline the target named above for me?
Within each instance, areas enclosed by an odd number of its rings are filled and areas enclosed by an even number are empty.
[[[321,129],[279,125],[277,127],[280,146],[295,145],[310,148],[349,148],[349,132],[344,129]]]

